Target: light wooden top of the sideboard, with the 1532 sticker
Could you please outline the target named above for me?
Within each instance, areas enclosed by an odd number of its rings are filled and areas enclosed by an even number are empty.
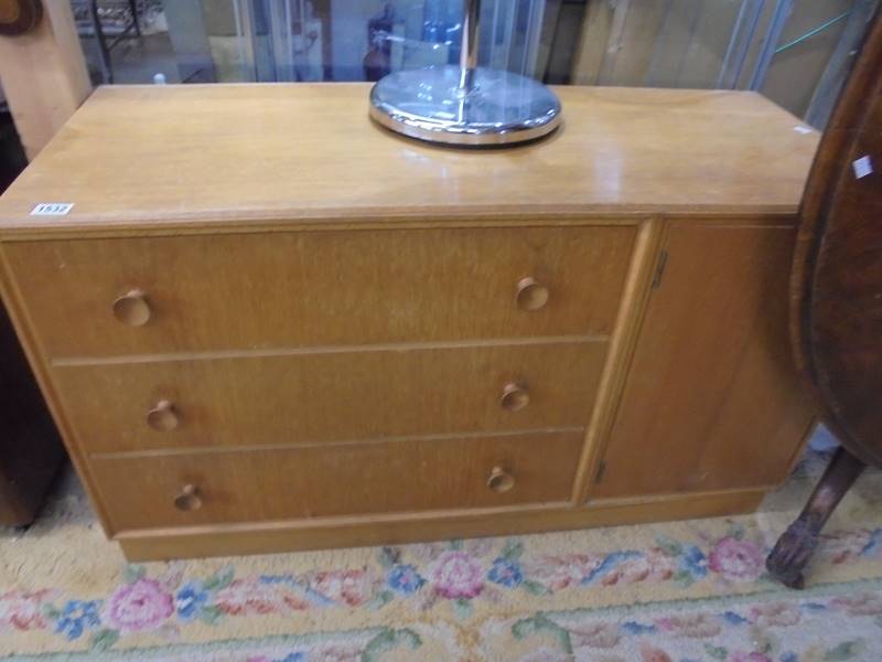
[[[99,87],[0,197],[0,236],[499,214],[794,214],[818,142],[749,92],[558,87],[503,150],[367,117],[368,84]],[[72,203],[66,215],[32,215]]]

